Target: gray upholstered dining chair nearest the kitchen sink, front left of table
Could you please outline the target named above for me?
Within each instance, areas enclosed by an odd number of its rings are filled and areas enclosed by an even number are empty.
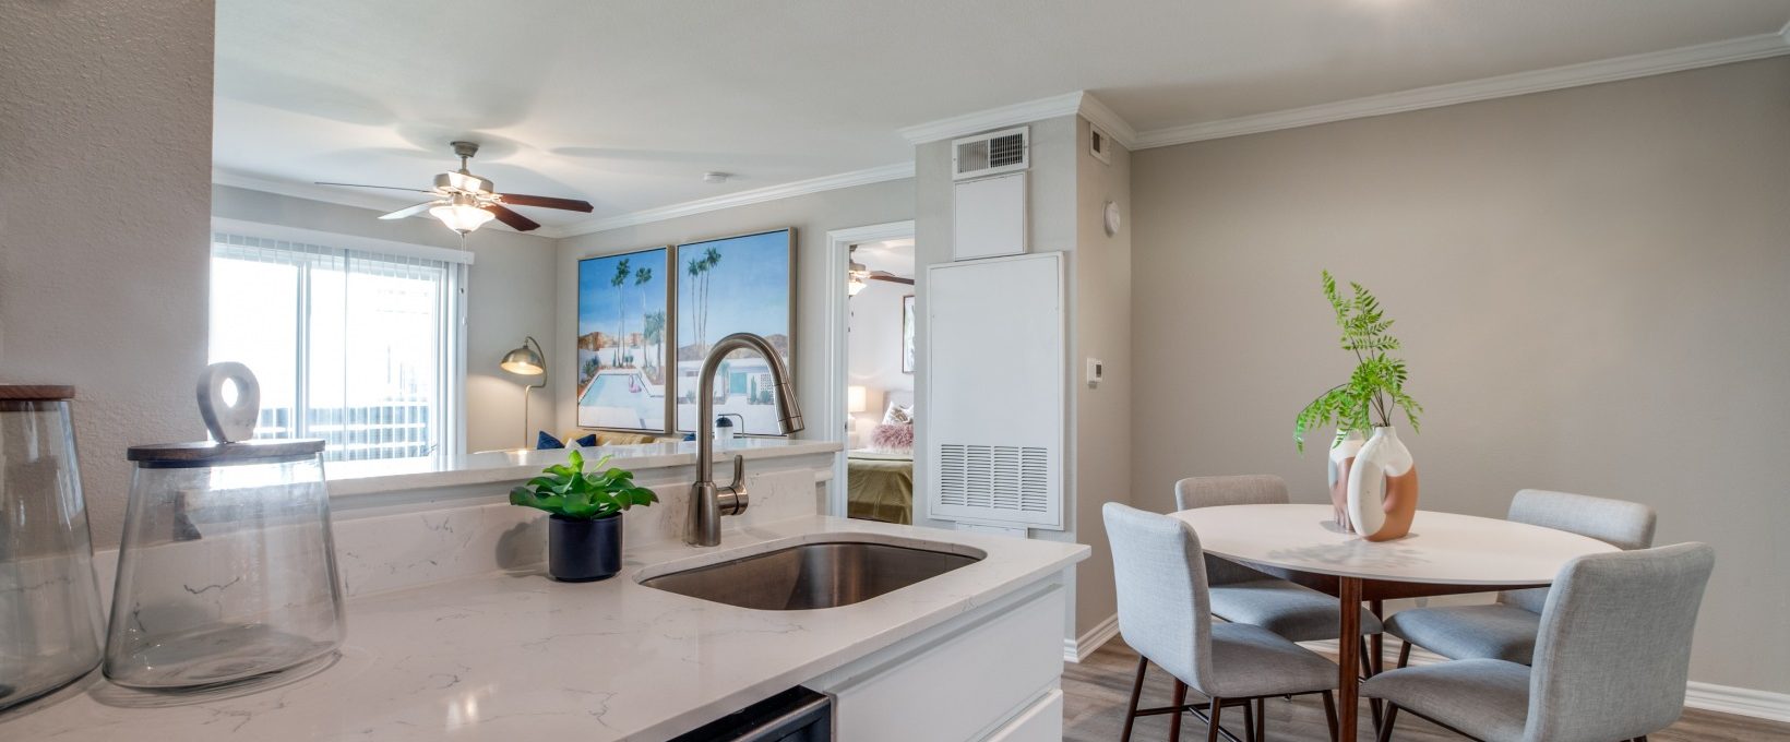
[[[1169,738],[1178,740],[1183,712],[1206,722],[1206,742],[1215,742],[1221,735],[1237,742],[1237,737],[1219,726],[1226,706],[1242,706],[1246,737],[1262,740],[1267,735],[1262,699],[1305,694],[1325,696],[1330,738],[1335,740],[1332,688],[1337,687],[1337,665],[1260,626],[1215,624],[1206,594],[1205,552],[1192,526],[1119,502],[1106,502],[1101,515],[1113,551],[1119,635],[1138,653],[1121,742],[1131,738],[1137,717],[1158,713],[1172,715]],[[1171,706],[1137,708],[1149,663],[1174,676]],[[1189,704],[1189,687],[1210,701]]]

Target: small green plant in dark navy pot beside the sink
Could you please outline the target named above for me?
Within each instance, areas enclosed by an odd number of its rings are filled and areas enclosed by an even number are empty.
[[[609,456],[584,470],[573,449],[566,463],[510,490],[510,504],[544,510],[548,517],[548,574],[562,583],[607,579],[621,570],[621,513],[659,502],[653,490],[634,485],[634,472],[603,468]]]

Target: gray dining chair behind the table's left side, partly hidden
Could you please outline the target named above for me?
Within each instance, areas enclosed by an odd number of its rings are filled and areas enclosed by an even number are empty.
[[[1287,483],[1273,474],[1187,477],[1174,483],[1176,510],[1287,502]],[[1212,615],[1232,624],[1255,624],[1294,642],[1334,640],[1341,633],[1335,597],[1210,554],[1206,578],[1212,585]],[[1362,610],[1360,633],[1380,633],[1380,619]]]

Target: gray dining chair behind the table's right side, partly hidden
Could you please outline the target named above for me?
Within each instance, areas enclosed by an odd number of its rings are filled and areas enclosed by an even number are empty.
[[[1625,501],[1523,490],[1511,499],[1509,520],[1591,536],[1618,549],[1654,545],[1654,510]],[[1385,633],[1403,640],[1398,667],[1411,645],[1450,660],[1509,660],[1527,665],[1536,653],[1536,628],[1548,588],[1505,590],[1486,606],[1411,608],[1385,620]]]

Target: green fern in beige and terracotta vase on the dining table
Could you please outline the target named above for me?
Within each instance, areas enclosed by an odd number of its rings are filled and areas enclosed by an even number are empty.
[[[1393,320],[1385,318],[1373,291],[1350,282],[1344,299],[1328,270],[1323,288],[1342,333],[1342,350],[1355,354],[1355,370],[1300,409],[1292,440],[1305,451],[1307,434],[1335,426],[1330,502],[1337,524],[1369,542],[1400,538],[1411,533],[1418,511],[1418,467],[1411,449],[1398,440],[1393,417],[1403,411],[1405,422],[1418,431],[1423,406],[1405,393],[1405,359],[1391,354],[1398,350],[1398,338],[1389,333]]]

